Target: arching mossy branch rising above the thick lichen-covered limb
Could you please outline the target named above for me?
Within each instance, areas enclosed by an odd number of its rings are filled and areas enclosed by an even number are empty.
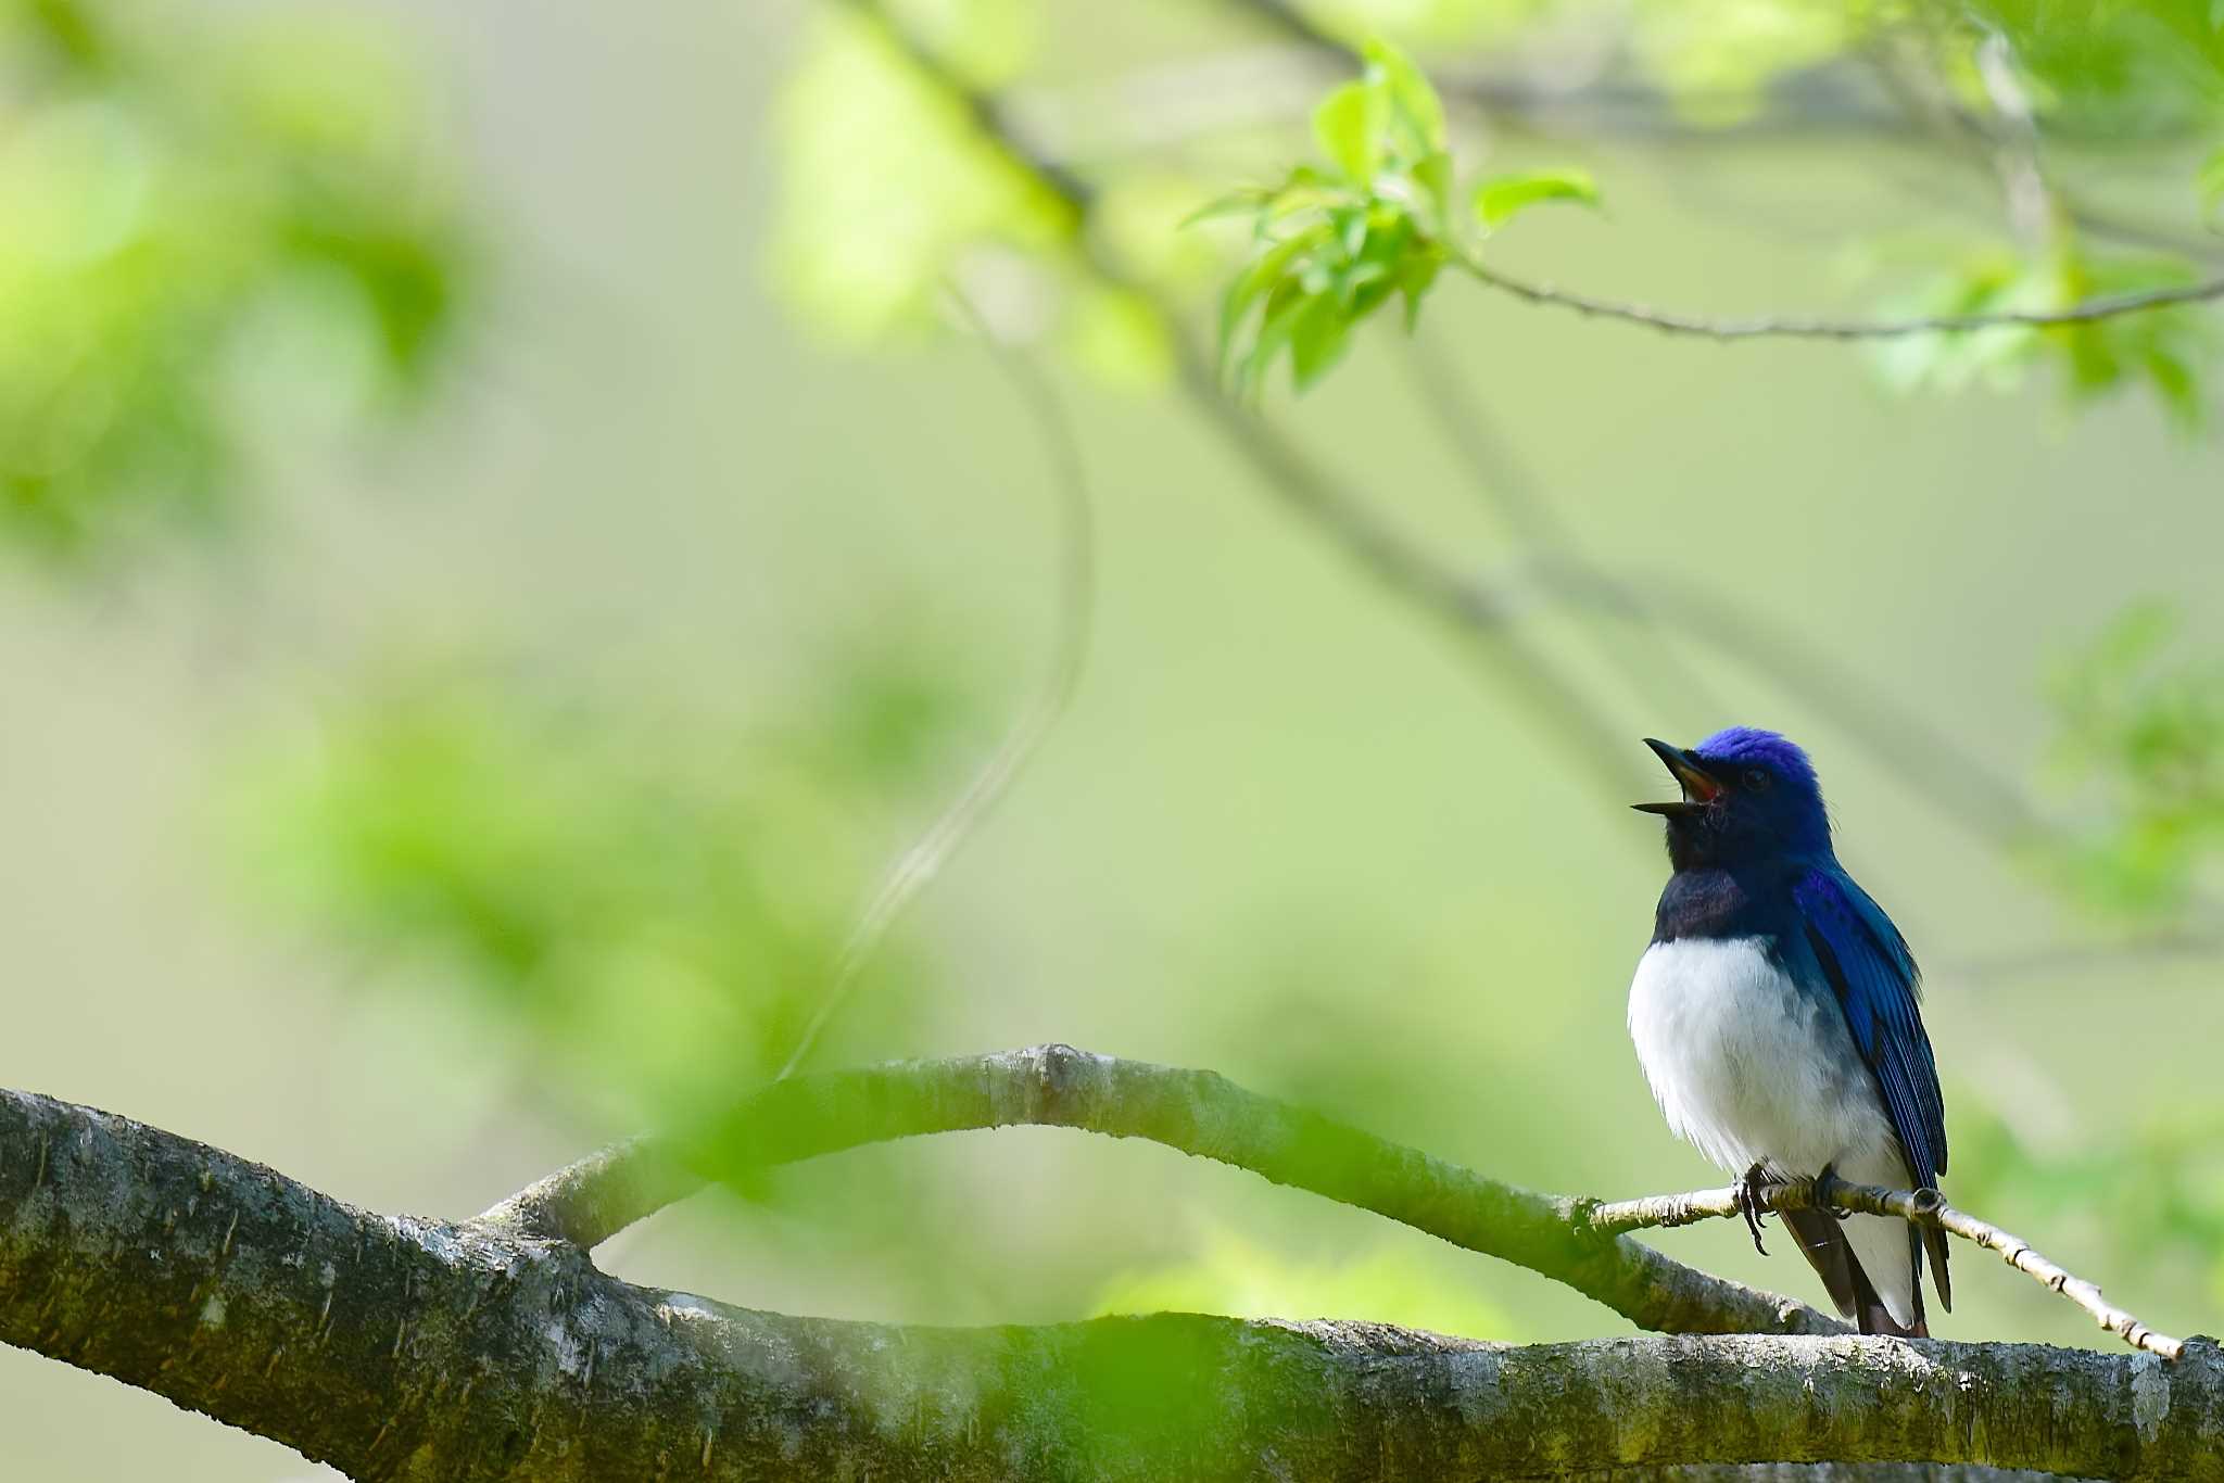
[[[1012,1125],[1148,1138],[1250,1170],[1568,1283],[1648,1330],[1841,1334],[1846,1327],[1797,1298],[1599,1234],[1577,1201],[1501,1185],[1212,1072],[1090,1056],[1068,1045],[778,1081],[707,1136],[603,1149],[480,1221],[592,1247],[692,1190],[674,1174],[683,1165],[743,1172],[865,1143]]]

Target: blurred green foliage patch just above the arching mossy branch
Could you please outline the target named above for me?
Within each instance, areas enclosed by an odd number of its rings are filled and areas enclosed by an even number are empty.
[[[396,660],[249,756],[236,840],[282,920],[476,1001],[580,1112],[689,1125],[785,1065],[972,736],[963,663],[923,645],[834,645],[814,678],[741,718]],[[836,1034],[901,1045],[932,1003],[887,952]]]

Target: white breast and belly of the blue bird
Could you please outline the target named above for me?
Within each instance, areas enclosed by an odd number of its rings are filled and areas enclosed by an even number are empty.
[[[1835,1001],[1801,994],[1761,938],[1655,943],[1630,981],[1630,1038],[1679,1138],[1732,1174],[1906,1187],[1875,1078]],[[1915,1312],[1906,1225],[1846,1221],[1868,1281],[1902,1323]]]

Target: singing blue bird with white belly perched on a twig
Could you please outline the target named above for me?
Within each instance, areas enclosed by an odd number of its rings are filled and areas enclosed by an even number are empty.
[[[1937,1190],[1946,1105],[1922,972],[1837,863],[1808,754],[1757,727],[1697,747],[1644,740],[1684,792],[1632,805],[1659,814],[1668,836],[1668,887],[1630,981],[1630,1038],[1670,1129],[1741,1176],[1755,1247],[1768,1185]],[[1953,1310],[1937,1230],[1833,1210],[1781,1216],[1864,1334],[1930,1334],[1926,1252],[1939,1310]]]

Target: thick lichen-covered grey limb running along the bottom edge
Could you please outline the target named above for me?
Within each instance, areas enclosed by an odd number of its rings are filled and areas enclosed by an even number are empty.
[[[0,1341],[378,1483],[1381,1483],[1750,1461],[2224,1479],[2208,1343],[2166,1365],[1850,1336],[1506,1347],[1190,1314],[787,1318],[620,1283],[569,1245],[354,1210],[20,1092],[0,1092]]]

